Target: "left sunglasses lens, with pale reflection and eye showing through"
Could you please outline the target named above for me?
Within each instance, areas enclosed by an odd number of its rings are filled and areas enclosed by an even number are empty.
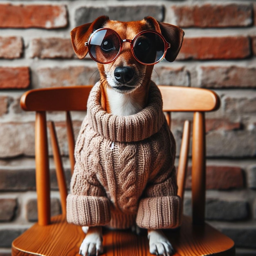
[[[90,53],[101,63],[112,61],[120,50],[118,36],[109,29],[102,29],[92,35],[89,42]]]

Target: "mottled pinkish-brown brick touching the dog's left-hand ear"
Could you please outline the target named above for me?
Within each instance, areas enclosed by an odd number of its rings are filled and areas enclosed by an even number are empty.
[[[35,58],[74,58],[70,39],[35,38],[31,42],[31,57]]]

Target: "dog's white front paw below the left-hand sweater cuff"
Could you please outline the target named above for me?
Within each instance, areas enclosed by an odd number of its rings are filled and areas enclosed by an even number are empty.
[[[101,231],[88,232],[80,246],[79,254],[83,256],[98,256],[103,253]]]

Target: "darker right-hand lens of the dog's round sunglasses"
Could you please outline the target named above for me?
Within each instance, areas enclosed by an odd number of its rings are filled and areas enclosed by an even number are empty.
[[[144,32],[135,38],[133,51],[136,58],[142,63],[155,63],[164,55],[164,41],[153,32]]]

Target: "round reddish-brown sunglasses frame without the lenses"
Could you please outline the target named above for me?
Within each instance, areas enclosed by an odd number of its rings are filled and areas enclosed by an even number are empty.
[[[108,62],[98,61],[96,58],[94,58],[94,56],[92,56],[91,51],[90,51],[90,41],[92,40],[93,35],[94,35],[95,33],[97,33],[98,31],[101,31],[101,30],[110,30],[110,31],[112,31],[112,32],[117,36],[117,38],[118,38],[118,40],[119,40],[119,45],[120,45],[119,52],[117,53],[117,55],[115,56],[115,58],[113,58],[111,61],[108,61]],[[134,52],[134,49],[133,49],[133,42],[136,40],[136,38],[138,38],[141,34],[144,34],[144,33],[147,33],[147,32],[152,32],[152,33],[154,33],[154,34],[157,34],[157,35],[163,40],[163,42],[164,42],[164,54],[163,54],[163,56],[162,56],[158,61],[155,61],[154,63],[144,63],[144,62],[140,61],[140,60],[135,56],[135,52]],[[162,36],[162,34],[160,34],[159,32],[157,32],[157,31],[155,31],[155,30],[151,30],[151,29],[149,29],[149,30],[143,30],[143,31],[139,32],[139,33],[131,40],[131,39],[121,39],[121,37],[119,36],[119,34],[118,34],[115,30],[109,29],[109,28],[100,28],[100,29],[95,30],[95,31],[90,35],[88,41],[85,42],[85,47],[88,47],[89,55],[91,56],[91,58],[92,58],[94,61],[96,61],[96,62],[98,62],[98,63],[101,63],[101,64],[109,64],[109,63],[115,61],[115,60],[118,58],[118,56],[120,55],[120,53],[121,53],[121,51],[122,51],[123,43],[125,43],[125,42],[130,43],[130,45],[131,45],[131,52],[132,52],[133,57],[135,58],[136,61],[138,61],[140,64],[143,64],[143,65],[155,65],[156,63],[162,61],[162,60],[164,59],[165,55],[166,55],[167,50],[171,47],[171,44],[168,43],[168,42],[165,40],[164,36]]]

